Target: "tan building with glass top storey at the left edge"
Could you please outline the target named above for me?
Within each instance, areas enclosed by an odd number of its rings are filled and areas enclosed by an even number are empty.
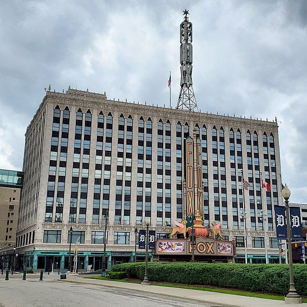
[[[15,245],[23,178],[21,171],[0,169],[0,267],[8,263]]]

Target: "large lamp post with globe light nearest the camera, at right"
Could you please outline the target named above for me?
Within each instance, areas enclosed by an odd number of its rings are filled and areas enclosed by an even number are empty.
[[[290,274],[290,289],[289,293],[284,298],[284,302],[300,304],[302,302],[301,297],[297,294],[294,287],[294,276],[293,276],[293,261],[292,261],[292,234],[291,234],[291,224],[290,224],[290,207],[289,207],[289,198],[291,195],[290,190],[287,187],[287,184],[284,185],[284,188],[281,190],[281,195],[284,198],[284,203],[286,204],[286,220],[287,220],[287,236],[288,236],[288,251],[289,251],[289,274]]]

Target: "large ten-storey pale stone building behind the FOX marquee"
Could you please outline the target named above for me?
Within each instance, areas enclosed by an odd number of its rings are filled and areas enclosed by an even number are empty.
[[[183,218],[183,144],[195,126],[202,140],[205,225],[222,221],[226,238],[237,239],[237,259],[244,259],[243,168],[250,183],[249,261],[265,261],[261,209],[268,213],[269,257],[278,261],[277,122],[120,102],[69,88],[46,93],[26,132],[17,230],[25,267],[32,266],[34,255],[35,269],[68,268],[72,226],[73,243],[81,241],[79,268],[101,268],[107,209],[109,266],[133,259],[134,229],[143,228],[146,218],[158,237],[169,234],[172,221]],[[260,172],[271,184],[271,192],[262,195]]]

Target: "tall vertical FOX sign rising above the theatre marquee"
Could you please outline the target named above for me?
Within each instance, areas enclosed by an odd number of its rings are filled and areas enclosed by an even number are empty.
[[[186,212],[195,215],[196,211],[203,216],[203,169],[202,169],[202,143],[193,130],[193,138],[185,140],[186,165]]]

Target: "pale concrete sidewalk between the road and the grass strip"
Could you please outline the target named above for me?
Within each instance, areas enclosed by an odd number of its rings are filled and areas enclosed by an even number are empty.
[[[280,307],[280,306],[301,306],[307,307],[307,303],[302,304],[286,304],[281,300],[273,300],[266,298],[248,297],[225,293],[216,293],[201,290],[189,290],[181,288],[161,287],[161,286],[142,286],[139,283],[120,282],[111,280],[88,279],[79,276],[68,275],[68,279],[61,280],[65,282],[75,282],[83,284],[96,284],[97,286],[113,287],[119,289],[130,289],[139,292],[147,292],[161,294],[171,297],[184,298],[199,302],[208,302],[231,307]]]

